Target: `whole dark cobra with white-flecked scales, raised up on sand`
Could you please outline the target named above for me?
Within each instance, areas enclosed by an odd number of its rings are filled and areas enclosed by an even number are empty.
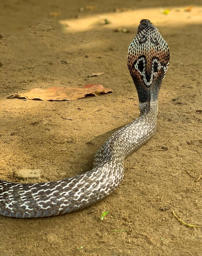
[[[110,195],[123,179],[125,157],[156,131],[158,93],[168,65],[167,43],[149,20],[141,20],[128,49],[128,68],[138,92],[140,116],[105,141],[94,157],[91,171],[35,184],[0,180],[0,215],[15,218],[61,215]]]

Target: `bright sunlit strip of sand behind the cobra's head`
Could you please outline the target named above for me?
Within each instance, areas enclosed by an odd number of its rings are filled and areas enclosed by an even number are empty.
[[[79,32],[90,29],[117,29],[136,27],[140,20],[151,20],[155,25],[173,25],[202,23],[202,7],[169,7],[132,9],[120,13],[102,13],[99,15],[59,20],[64,32]]]

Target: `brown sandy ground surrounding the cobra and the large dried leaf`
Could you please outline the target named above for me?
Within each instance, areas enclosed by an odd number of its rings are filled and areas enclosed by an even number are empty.
[[[119,188],[102,202],[64,216],[0,216],[0,255],[202,255],[202,6],[200,0],[169,4],[0,1],[0,177],[5,180],[19,182],[13,172],[20,168],[41,169],[35,182],[88,171],[108,136],[138,117],[127,48],[142,18],[154,22],[171,52],[157,132],[125,160]],[[190,5],[196,7],[184,11]],[[87,28],[83,21],[82,31],[71,27],[64,33],[63,27],[61,33],[59,20],[74,23],[105,13],[110,21],[115,9],[133,7],[133,20],[126,11],[120,14],[128,33],[114,32],[120,26],[115,21],[108,26],[100,20]],[[104,74],[89,78],[92,72]],[[76,101],[7,99],[35,87],[89,83],[114,92]],[[182,225],[172,211],[200,227]],[[125,231],[112,231],[117,229]]]

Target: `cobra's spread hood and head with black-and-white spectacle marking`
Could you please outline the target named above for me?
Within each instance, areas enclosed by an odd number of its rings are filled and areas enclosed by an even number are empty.
[[[127,63],[138,92],[140,106],[158,100],[169,58],[168,45],[158,29],[150,20],[141,20],[128,49]]]

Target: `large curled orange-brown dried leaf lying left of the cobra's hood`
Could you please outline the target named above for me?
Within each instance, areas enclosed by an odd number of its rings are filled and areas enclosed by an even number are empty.
[[[87,94],[99,94],[113,92],[112,89],[104,88],[101,84],[83,85],[83,88],[74,87],[51,87],[44,89],[32,89],[25,93],[16,93],[7,97],[7,99],[40,99],[42,101],[63,101],[63,100],[75,100],[84,98]]]

